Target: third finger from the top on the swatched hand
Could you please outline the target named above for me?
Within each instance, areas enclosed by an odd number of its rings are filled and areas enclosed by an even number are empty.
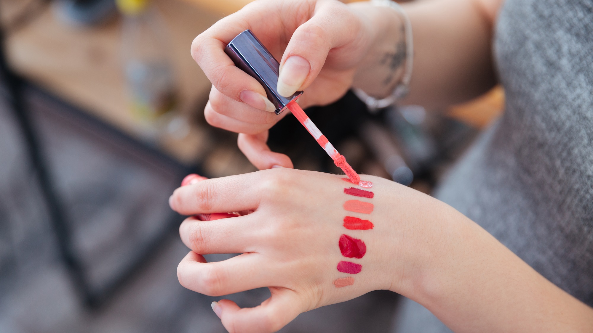
[[[181,286],[208,296],[244,292],[273,284],[275,274],[263,269],[259,254],[245,253],[224,261],[204,262],[190,251],[177,266]]]

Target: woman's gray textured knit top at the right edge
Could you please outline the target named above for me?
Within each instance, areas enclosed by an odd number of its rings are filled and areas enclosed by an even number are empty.
[[[593,0],[506,0],[494,45],[505,114],[436,197],[593,306]],[[449,332],[410,300],[395,331]]]

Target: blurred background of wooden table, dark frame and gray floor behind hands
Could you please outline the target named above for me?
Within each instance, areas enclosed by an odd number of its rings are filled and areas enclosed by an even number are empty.
[[[225,332],[210,307],[221,297],[178,284],[188,250],[167,199],[191,172],[256,170],[236,134],[203,119],[211,84],[189,55],[247,2],[0,1],[0,332]],[[356,171],[430,194],[502,106],[500,88],[428,112],[367,110],[349,92],[307,113]],[[294,117],[269,144],[296,168],[340,173]],[[396,303],[368,293],[282,332],[387,332]]]

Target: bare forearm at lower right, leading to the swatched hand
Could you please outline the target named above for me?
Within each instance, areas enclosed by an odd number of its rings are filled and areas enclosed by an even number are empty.
[[[438,207],[442,206],[442,207]],[[403,294],[455,332],[591,332],[593,309],[442,203],[426,269]]]

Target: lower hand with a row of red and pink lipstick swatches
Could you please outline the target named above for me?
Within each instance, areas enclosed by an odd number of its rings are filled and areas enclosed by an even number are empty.
[[[215,304],[229,332],[277,331],[301,312],[371,290],[408,292],[416,281],[412,274],[421,271],[423,255],[433,240],[425,232],[431,230],[431,223],[423,223],[415,212],[431,212],[423,207],[436,200],[366,175],[363,180],[374,183],[366,190],[374,197],[352,196],[344,189],[365,189],[343,177],[277,168],[184,182],[189,185],[178,188],[170,199],[171,207],[181,214],[254,212],[214,221],[186,219],[180,235],[192,251],[179,264],[180,283],[209,296],[269,287],[272,296],[256,308],[240,309],[230,300]],[[374,210],[370,214],[349,212],[343,207],[347,200],[372,203]],[[345,216],[369,220],[374,226],[347,229]],[[345,257],[339,246],[342,235],[360,239],[366,252]],[[210,263],[202,257],[213,253],[243,254]],[[362,265],[362,270],[340,273],[340,261]],[[352,285],[334,285],[349,282]]]

